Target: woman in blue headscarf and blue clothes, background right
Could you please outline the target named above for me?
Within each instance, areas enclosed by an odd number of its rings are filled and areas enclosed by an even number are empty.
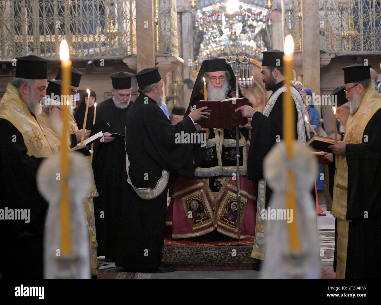
[[[301,96],[303,99],[304,106],[308,112],[308,121],[311,124],[311,127],[317,132],[319,130],[319,111],[315,108],[314,100],[312,98],[312,92],[308,88],[303,88],[301,90]],[[314,135],[314,132],[310,128],[310,138]],[[325,216],[326,213],[319,206],[319,199],[317,196],[317,191],[321,191],[324,189],[324,180],[320,179],[321,174],[323,173],[323,165],[319,164],[319,175],[317,176],[317,180],[315,183],[315,190],[313,195],[316,201],[316,213],[319,216]]]

